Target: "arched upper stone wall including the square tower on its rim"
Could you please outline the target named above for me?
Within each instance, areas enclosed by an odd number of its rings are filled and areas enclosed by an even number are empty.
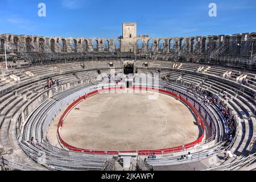
[[[137,36],[136,23],[123,23],[123,36],[115,39],[108,38],[63,38],[43,37],[35,35],[0,34],[1,44],[9,43],[12,48],[24,52],[170,52],[172,48],[180,49],[196,44],[219,44],[222,42],[243,42],[256,40],[256,32],[233,35],[209,35],[191,37],[150,38]],[[120,48],[117,49],[118,44]],[[139,45],[138,42],[141,42]]]

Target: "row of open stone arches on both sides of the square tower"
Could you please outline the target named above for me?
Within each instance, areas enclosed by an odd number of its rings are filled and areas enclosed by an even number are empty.
[[[190,46],[191,51],[193,51],[194,47],[200,43],[202,49],[205,49],[208,44],[212,44],[213,47],[218,46],[218,44],[226,43],[229,44],[230,42],[236,41],[238,44],[242,42],[244,38],[242,38],[244,35],[236,35],[236,36],[208,36],[208,37],[196,37],[196,38],[174,38],[174,39],[166,39],[166,38],[160,38],[160,39],[137,39],[136,42],[136,48],[137,51],[141,50],[147,50],[147,51],[163,51],[163,50],[173,50],[173,49],[183,49],[185,47]],[[256,34],[251,33],[248,36],[248,40],[256,39]],[[11,35],[9,36],[9,40],[11,39]],[[21,38],[24,42],[24,38]],[[26,37],[26,49],[27,52],[31,52],[33,49],[35,49],[35,45],[38,44],[39,51],[44,51],[44,44],[47,45],[50,44],[51,51],[55,52],[56,47],[57,49],[61,49],[61,52],[76,52],[78,48],[82,49],[83,51],[93,50],[93,51],[99,51],[99,48],[104,51],[110,51],[110,47],[112,50],[120,51],[121,49],[121,40],[120,39],[114,39],[114,40],[108,40],[108,39],[61,39],[61,38],[55,38],[55,39],[49,39],[48,40],[44,38],[38,38],[38,37]],[[99,42],[100,41],[100,42]],[[13,37],[14,44],[19,43],[19,36]],[[2,39],[1,39],[2,44]],[[58,52],[60,52],[58,50]]]

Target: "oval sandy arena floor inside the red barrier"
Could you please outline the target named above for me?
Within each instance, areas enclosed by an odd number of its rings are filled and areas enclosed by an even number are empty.
[[[80,102],[65,118],[61,136],[90,150],[148,150],[180,146],[199,137],[189,109],[175,98],[152,92],[101,93]],[[57,122],[50,128],[56,133]],[[56,136],[56,134],[55,134]],[[51,140],[51,137],[50,137]]]

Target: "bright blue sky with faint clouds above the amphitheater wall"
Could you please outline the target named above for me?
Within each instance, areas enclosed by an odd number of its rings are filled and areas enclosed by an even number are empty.
[[[0,34],[116,38],[122,22],[151,37],[256,31],[256,0],[0,0]],[[46,17],[38,4],[46,4]],[[216,3],[217,17],[208,15]]]

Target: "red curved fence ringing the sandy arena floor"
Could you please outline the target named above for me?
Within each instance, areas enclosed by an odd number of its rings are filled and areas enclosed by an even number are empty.
[[[199,144],[203,141],[204,139],[204,135],[205,135],[205,125],[204,122],[202,121],[199,112],[196,110],[196,108],[190,103],[188,102],[185,98],[179,96],[178,94],[169,92],[167,90],[162,90],[162,89],[158,89],[158,88],[150,88],[150,87],[145,87],[145,86],[132,86],[132,89],[139,89],[139,90],[150,90],[150,91],[154,91],[154,92],[159,92],[159,93],[163,93],[163,94],[167,94],[169,96],[173,96],[176,97],[178,100],[184,102],[185,104],[187,104],[193,111],[193,113],[196,115],[197,117],[197,124],[200,125],[203,129],[203,134],[194,142],[188,143],[188,144],[184,144],[184,146],[177,146],[177,147],[172,147],[172,148],[162,148],[162,149],[158,149],[158,150],[133,150],[133,151],[96,151],[96,150],[88,150],[88,149],[84,149],[84,148],[77,148],[74,146],[71,146],[70,144],[66,143],[60,135],[60,127],[63,127],[63,122],[64,119],[66,117],[66,115],[69,113],[69,111],[72,110],[73,107],[75,107],[80,101],[85,100],[88,97],[93,96],[94,94],[98,94],[100,92],[106,92],[108,90],[121,90],[124,89],[123,86],[118,86],[118,87],[111,87],[111,88],[104,88],[104,89],[99,89],[99,90],[95,90],[93,92],[90,92],[88,94],[85,94],[85,96],[80,97],[79,99],[77,99],[75,102],[73,102],[71,105],[68,106],[68,108],[64,111],[63,115],[61,115],[61,118],[59,120],[58,126],[57,126],[57,137],[59,138],[59,141],[61,144],[63,144],[63,146],[65,148],[68,148],[68,150],[71,151],[76,151],[76,152],[84,152],[84,153],[88,153],[88,154],[118,154],[119,152],[123,152],[123,153],[133,153],[133,152],[138,152],[138,155],[149,155],[152,154],[153,152],[156,155],[160,155],[160,154],[168,154],[168,153],[172,153],[172,152],[178,152],[178,151],[182,151],[185,148],[191,148],[196,146],[196,144]]]

